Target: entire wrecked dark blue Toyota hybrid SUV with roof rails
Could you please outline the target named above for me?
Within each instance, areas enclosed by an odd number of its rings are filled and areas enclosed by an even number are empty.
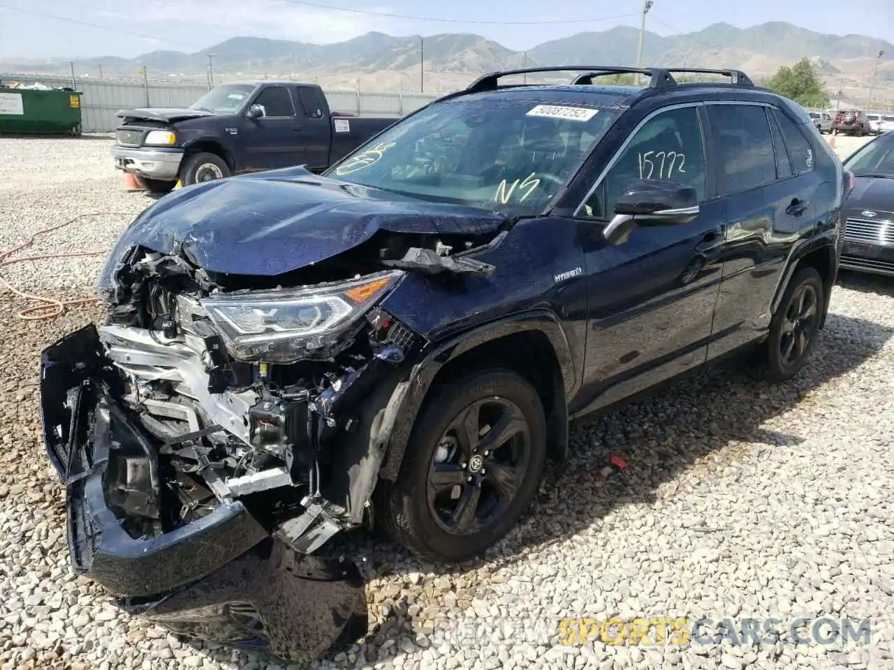
[[[499,85],[550,70],[583,73]],[[838,272],[841,163],[742,72],[676,71],[493,73],[322,175],[148,207],[102,272],[107,322],[43,352],[75,570],[175,631],[298,659],[365,630],[338,532],[377,519],[474,557],[569,419],[733,352],[795,375]],[[626,72],[648,86],[594,83]]]

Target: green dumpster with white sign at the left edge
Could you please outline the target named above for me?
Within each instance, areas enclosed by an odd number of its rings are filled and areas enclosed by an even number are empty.
[[[80,135],[81,95],[0,87],[0,134]]]

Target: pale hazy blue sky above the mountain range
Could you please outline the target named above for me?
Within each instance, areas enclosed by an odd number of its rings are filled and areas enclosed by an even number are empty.
[[[642,0],[496,0],[491,6],[500,9],[485,9],[481,0],[308,0],[308,4],[298,0],[0,0],[0,55],[133,57],[154,49],[198,51],[237,35],[325,43],[369,30],[391,35],[474,32],[522,50],[582,30],[638,26]],[[870,16],[872,20],[866,21]],[[669,35],[703,29],[718,21],[740,28],[764,21],[789,21],[819,32],[890,40],[894,38],[894,0],[654,0],[646,28]],[[525,22],[527,25],[522,25]]]

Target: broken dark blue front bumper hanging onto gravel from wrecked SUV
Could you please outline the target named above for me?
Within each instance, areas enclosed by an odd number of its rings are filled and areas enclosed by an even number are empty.
[[[41,420],[66,487],[74,571],[173,632],[294,662],[362,636],[357,566],[299,554],[239,501],[155,537],[131,537],[120,510],[153,515],[166,503],[164,475],[145,431],[115,401],[116,375],[92,325],[42,354]]]

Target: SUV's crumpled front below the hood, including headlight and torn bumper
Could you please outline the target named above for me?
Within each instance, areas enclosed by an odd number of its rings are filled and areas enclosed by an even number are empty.
[[[41,364],[75,571],[175,632],[288,660],[362,635],[358,568],[326,542],[372,519],[422,344],[377,306],[402,272],[221,291],[135,247],[114,276],[105,324]]]

